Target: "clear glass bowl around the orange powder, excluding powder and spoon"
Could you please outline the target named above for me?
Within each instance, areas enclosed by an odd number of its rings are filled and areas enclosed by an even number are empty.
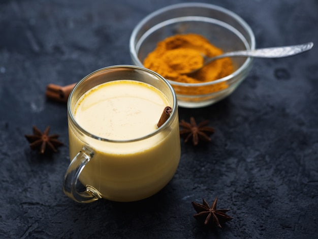
[[[255,49],[255,36],[251,28],[237,14],[211,4],[175,4],[149,14],[134,28],[130,38],[133,63],[144,67],[144,59],[158,42],[176,34],[187,33],[202,35],[224,52]],[[232,62],[234,72],[217,80],[182,83],[167,79],[176,92],[178,105],[187,108],[204,107],[229,96],[249,73],[252,58],[232,57]],[[216,92],[198,94],[201,89],[215,88],[218,84],[226,84],[226,87]]]

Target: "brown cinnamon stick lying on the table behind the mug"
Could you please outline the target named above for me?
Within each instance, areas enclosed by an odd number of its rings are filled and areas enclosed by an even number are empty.
[[[57,84],[48,84],[46,86],[45,95],[50,100],[66,103],[69,99],[70,93],[72,89],[74,88],[75,84],[76,83],[69,84],[66,86],[60,86]]]

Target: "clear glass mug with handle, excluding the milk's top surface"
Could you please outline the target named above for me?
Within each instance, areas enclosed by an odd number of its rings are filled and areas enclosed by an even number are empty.
[[[146,136],[127,140],[107,139],[86,131],[75,118],[79,99],[91,88],[117,80],[143,82],[163,93],[172,107],[167,121]],[[168,81],[153,71],[121,65],[89,74],[69,96],[68,124],[71,163],[63,191],[77,202],[100,198],[141,200],[164,188],[177,170],[180,160],[177,99]],[[78,181],[86,190],[78,189]]]

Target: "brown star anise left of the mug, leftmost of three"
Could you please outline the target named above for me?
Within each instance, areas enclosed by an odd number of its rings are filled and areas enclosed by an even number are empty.
[[[51,151],[57,152],[56,147],[63,145],[58,141],[58,134],[49,136],[50,127],[48,126],[42,133],[36,126],[33,127],[33,135],[24,135],[27,141],[30,143],[31,150],[40,149],[39,153],[44,154],[48,147]]]

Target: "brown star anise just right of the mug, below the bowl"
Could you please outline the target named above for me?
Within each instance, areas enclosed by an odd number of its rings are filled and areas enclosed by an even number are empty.
[[[184,138],[184,142],[187,142],[192,137],[194,145],[198,145],[199,140],[209,142],[211,141],[209,135],[214,133],[214,128],[207,126],[208,123],[209,121],[203,121],[197,125],[194,117],[190,117],[190,123],[182,119],[180,126],[184,129],[180,130],[180,136]]]

